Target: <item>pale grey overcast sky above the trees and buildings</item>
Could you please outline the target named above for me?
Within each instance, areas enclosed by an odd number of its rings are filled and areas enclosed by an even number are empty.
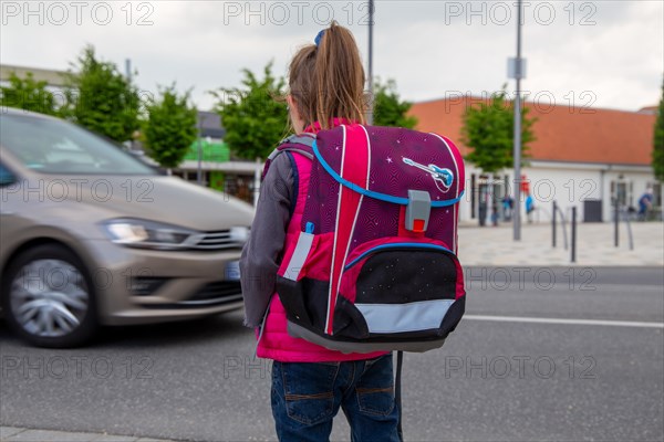
[[[0,62],[66,70],[83,46],[143,91],[177,82],[210,108],[208,91],[239,85],[240,70],[269,61],[284,75],[297,49],[330,19],[350,28],[367,57],[364,1],[7,1]],[[664,72],[664,2],[525,1],[522,88],[540,103],[636,110],[655,105]],[[418,102],[481,95],[508,82],[517,11],[509,1],[377,0],[374,74]],[[509,81],[508,91],[515,88]]]

